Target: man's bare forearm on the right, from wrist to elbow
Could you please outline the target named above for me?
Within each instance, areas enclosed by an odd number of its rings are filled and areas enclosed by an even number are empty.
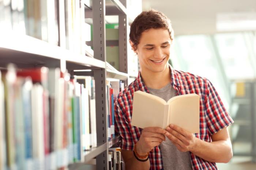
[[[196,144],[190,151],[209,162],[227,163],[233,156],[229,140],[206,142],[196,138]]]

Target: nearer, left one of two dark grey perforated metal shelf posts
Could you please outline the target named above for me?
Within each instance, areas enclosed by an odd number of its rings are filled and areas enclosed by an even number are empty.
[[[105,0],[93,0],[94,58],[106,61]],[[106,69],[95,69],[97,145],[108,142],[106,117]],[[97,170],[108,170],[108,149],[96,157]]]

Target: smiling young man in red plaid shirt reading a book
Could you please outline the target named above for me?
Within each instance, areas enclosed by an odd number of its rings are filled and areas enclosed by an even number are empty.
[[[141,70],[114,103],[125,169],[217,170],[215,162],[229,162],[233,153],[227,126],[233,120],[209,80],[168,64],[173,41],[170,20],[155,10],[142,12],[131,24],[129,36]],[[200,133],[191,134],[176,125],[166,129],[131,126],[133,92],[138,90],[166,101],[176,95],[200,95]]]

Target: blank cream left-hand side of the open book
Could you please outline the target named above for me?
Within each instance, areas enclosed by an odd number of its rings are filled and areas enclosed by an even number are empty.
[[[163,128],[163,117],[167,118],[168,107],[165,100],[161,101],[152,94],[136,91],[133,94],[132,126],[139,128],[160,127]],[[160,98],[161,99],[161,98]],[[166,111],[165,111],[166,110]],[[165,112],[165,113],[164,113]],[[165,126],[166,127],[166,126]]]

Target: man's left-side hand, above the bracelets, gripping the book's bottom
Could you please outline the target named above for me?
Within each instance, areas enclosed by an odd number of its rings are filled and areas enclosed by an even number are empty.
[[[136,143],[136,151],[139,155],[146,155],[155,146],[159,146],[165,140],[166,130],[158,127],[144,128]]]

